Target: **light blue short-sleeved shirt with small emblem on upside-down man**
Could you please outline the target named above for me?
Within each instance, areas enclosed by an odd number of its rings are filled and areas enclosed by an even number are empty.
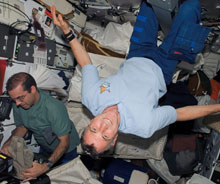
[[[95,66],[82,68],[82,103],[94,116],[117,105],[119,131],[124,133],[147,138],[175,122],[177,114],[173,107],[158,106],[165,93],[160,67],[147,58],[130,58],[115,74],[102,79]]]

